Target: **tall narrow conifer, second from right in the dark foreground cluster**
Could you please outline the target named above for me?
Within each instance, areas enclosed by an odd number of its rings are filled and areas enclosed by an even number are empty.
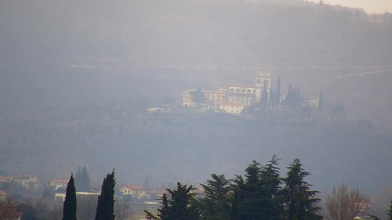
[[[265,164],[261,169],[261,180],[267,190],[267,198],[269,199],[269,202],[263,207],[265,209],[264,218],[269,220],[280,220],[284,212],[280,186],[280,168],[278,168],[279,160],[280,158],[273,155],[268,164]]]

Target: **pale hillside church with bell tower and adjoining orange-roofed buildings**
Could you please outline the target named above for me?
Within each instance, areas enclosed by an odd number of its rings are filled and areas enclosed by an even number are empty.
[[[202,90],[205,96],[205,103],[196,103],[192,100],[191,94],[196,89],[189,89],[183,92],[183,106],[203,106],[203,104],[238,103],[243,106],[251,106],[260,103],[261,94],[266,91],[270,93],[272,79],[269,72],[256,72],[255,81],[252,85],[229,85],[218,90]],[[266,90],[264,87],[266,86]],[[268,96],[267,96],[268,97]],[[227,112],[231,113],[231,111]]]

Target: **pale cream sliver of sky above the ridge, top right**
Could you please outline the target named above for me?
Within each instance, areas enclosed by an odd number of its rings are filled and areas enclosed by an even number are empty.
[[[318,2],[318,1],[315,1]],[[325,3],[364,8],[368,13],[392,11],[392,0],[324,0]]]

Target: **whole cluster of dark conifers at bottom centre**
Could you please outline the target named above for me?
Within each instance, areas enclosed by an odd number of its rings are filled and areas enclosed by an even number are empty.
[[[318,191],[311,190],[305,178],[310,173],[295,159],[286,177],[280,177],[279,158],[275,155],[261,166],[252,161],[245,169],[245,178],[236,175],[212,174],[201,184],[204,192],[197,198],[192,186],[177,184],[164,195],[158,216],[145,211],[149,220],[321,220]]]

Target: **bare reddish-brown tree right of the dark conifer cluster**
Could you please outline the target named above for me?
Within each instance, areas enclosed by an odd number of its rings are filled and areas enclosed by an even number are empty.
[[[358,188],[349,190],[346,184],[338,188],[334,186],[327,197],[326,206],[327,220],[349,220],[372,209],[370,197],[359,192]]]

